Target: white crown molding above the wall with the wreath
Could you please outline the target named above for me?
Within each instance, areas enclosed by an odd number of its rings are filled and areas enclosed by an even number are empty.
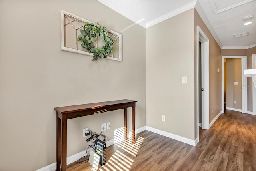
[[[106,5],[108,8],[111,8],[112,10],[116,11],[117,13],[121,14],[122,16],[128,18],[129,20],[132,20],[133,22],[135,22],[136,24],[146,28],[146,22],[144,22],[143,20],[145,20],[144,18],[137,18],[136,16],[129,14],[126,11],[120,10],[118,7],[114,6],[112,3],[110,3],[110,1],[108,0],[98,0],[98,2]]]

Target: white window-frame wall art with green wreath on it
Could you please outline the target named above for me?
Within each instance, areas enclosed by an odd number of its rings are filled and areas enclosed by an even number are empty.
[[[61,10],[61,50],[122,61],[122,34]]]

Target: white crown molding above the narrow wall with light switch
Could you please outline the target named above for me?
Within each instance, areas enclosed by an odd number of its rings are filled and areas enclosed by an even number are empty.
[[[154,19],[150,22],[147,22],[145,28],[149,28],[150,26],[154,26],[155,24],[158,24],[158,23],[160,23],[164,20],[167,20],[168,18],[172,18],[173,16],[176,16],[176,15],[182,13],[182,12],[185,12],[187,10],[190,10],[191,8],[194,8],[195,5],[196,5],[196,2],[197,2],[197,0],[194,0],[194,1],[178,8],[178,9],[172,11],[172,12],[169,12],[169,13],[164,14],[163,16],[160,16],[160,17],[158,17],[158,18],[156,18],[156,19]]]

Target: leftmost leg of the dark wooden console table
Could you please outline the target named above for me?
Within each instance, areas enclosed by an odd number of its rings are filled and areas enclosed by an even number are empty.
[[[56,151],[56,160],[57,160],[57,166],[56,170],[60,171],[60,164],[61,164],[61,119],[58,117],[58,112],[57,112],[57,138],[56,138],[56,143],[57,143],[57,151]]]

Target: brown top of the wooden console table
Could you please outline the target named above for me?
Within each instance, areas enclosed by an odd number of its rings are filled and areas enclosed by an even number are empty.
[[[58,113],[73,113],[77,111],[86,111],[90,109],[102,108],[102,107],[110,107],[114,105],[122,105],[126,103],[134,103],[137,102],[135,100],[115,100],[115,101],[104,101],[99,103],[89,103],[82,105],[72,105],[72,106],[64,106],[64,107],[55,107]]]

